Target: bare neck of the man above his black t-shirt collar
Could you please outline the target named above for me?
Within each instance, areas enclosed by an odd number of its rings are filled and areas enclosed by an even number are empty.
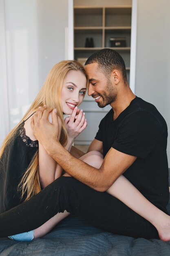
[[[130,105],[130,102],[135,99],[135,97],[135,94],[130,90],[130,88],[127,88],[123,92],[117,94],[116,100],[110,104],[114,111],[114,120]]]

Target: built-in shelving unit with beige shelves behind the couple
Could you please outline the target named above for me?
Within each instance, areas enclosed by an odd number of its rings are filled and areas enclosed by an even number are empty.
[[[130,39],[132,6],[74,6],[74,58],[82,64],[95,51],[114,49],[123,57],[127,79],[130,77]],[[126,38],[126,47],[111,47],[110,38]],[[86,38],[93,38],[94,47],[85,47]],[[81,107],[86,113],[87,128],[76,138],[75,144],[88,145],[94,139],[101,119],[110,106],[99,108],[86,94]]]

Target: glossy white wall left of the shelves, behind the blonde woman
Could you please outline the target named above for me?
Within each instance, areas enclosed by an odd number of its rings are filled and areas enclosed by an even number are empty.
[[[0,66],[7,72],[7,84],[3,79],[0,92],[7,89],[4,104],[9,108],[9,127],[3,136],[3,123],[0,127],[1,144],[33,102],[51,67],[65,59],[68,0],[0,0],[0,7],[0,36],[6,48],[6,54],[0,52]]]

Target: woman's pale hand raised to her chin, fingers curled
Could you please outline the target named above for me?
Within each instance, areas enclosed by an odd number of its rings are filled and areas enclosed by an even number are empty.
[[[79,111],[77,107],[74,108],[70,117],[65,118],[64,122],[68,137],[71,139],[75,139],[87,126],[85,113],[83,113],[83,110]]]

